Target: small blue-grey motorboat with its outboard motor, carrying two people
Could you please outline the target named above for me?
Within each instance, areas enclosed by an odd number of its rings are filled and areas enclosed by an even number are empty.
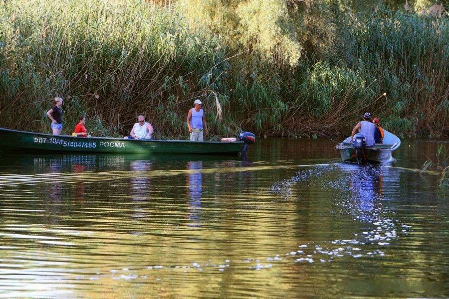
[[[341,159],[346,162],[365,164],[367,162],[386,162],[393,159],[393,151],[401,146],[401,140],[394,134],[384,129],[384,140],[382,144],[367,147],[365,137],[356,134],[353,141],[351,137],[346,138],[338,144],[335,149],[340,151]]]

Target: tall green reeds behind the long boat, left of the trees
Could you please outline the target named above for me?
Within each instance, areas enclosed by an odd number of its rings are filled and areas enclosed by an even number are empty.
[[[60,96],[65,133],[79,114],[105,133],[146,114],[158,133],[181,134],[198,78],[224,54],[206,30],[140,1],[7,1],[0,16],[2,127],[48,132]]]

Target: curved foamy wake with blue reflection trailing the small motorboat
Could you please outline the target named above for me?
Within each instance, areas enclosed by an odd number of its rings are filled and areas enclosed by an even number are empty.
[[[336,258],[351,256],[352,258],[372,258],[385,256],[385,248],[395,242],[400,234],[407,234],[411,226],[402,224],[394,218],[395,211],[385,207],[383,202],[389,200],[382,192],[382,166],[353,164],[337,164],[326,167],[315,167],[298,171],[290,179],[271,186],[271,192],[282,198],[292,195],[292,188],[299,183],[307,183],[309,187],[332,188],[339,191],[335,197],[335,210],[331,213],[350,215],[354,221],[367,224],[370,228],[355,232],[352,238],[336,239],[326,244],[301,244],[299,249],[285,253],[297,263],[332,262]],[[343,177],[324,183],[320,178],[335,171],[342,171]],[[328,177],[328,176],[325,176]],[[282,260],[281,255],[268,257],[267,261]],[[258,265],[258,266],[257,266]],[[260,261],[256,268],[263,269]]]

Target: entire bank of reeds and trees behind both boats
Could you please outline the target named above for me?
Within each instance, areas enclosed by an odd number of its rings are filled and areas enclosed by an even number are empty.
[[[449,21],[430,0],[9,0],[0,3],[0,126],[98,135],[145,114],[186,136],[194,99],[229,136],[347,135],[365,111],[399,136],[449,133]]]

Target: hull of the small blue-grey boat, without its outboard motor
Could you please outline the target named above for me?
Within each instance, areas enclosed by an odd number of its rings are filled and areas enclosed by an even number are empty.
[[[372,147],[366,147],[363,149],[364,158],[368,162],[388,162],[393,159],[393,152],[401,145],[401,140],[394,134],[384,129],[383,144],[375,144]],[[357,158],[356,149],[351,145],[351,137],[345,139],[342,143],[338,144],[335,149],[340,151],[341,159],[345,162],[360,163],[360,159]]]

